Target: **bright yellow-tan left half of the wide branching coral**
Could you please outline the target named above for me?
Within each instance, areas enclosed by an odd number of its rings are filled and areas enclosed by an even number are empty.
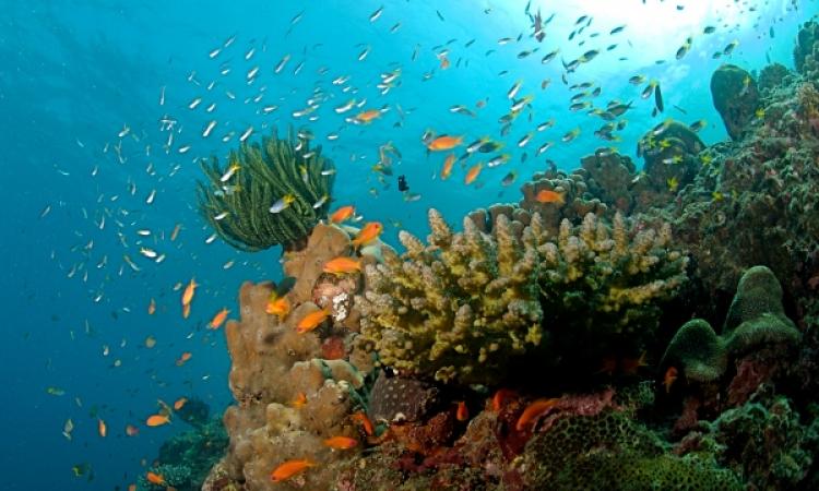
[[[491,235],[470,218],[463,232],[453,232],[435,209],[429,225],[427,244],[402,231],[406,252],[367,267],[368,289],[356,299],[363,336],[401,372],[497,382],[510,357],[541,343],[541,217],[533,216],[521,239],[502,215]]]

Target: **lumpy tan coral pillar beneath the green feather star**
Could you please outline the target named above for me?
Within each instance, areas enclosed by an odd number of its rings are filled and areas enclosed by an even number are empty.
[[[212,471],[211,489],[242,483],[254,490],[324,489],[331,478],[327,467],[311,468],[284,483],[272,482],[270,474],[288,459],[330,463],[342,458],[343,452],[332,451],[323,440],[358,436],[351,415],[364,407],[365,374],[347,361],[346,348],[341,349],[341,358],[322,358],[327,339],[352,345],[348,337],[355,333],[344,325],[347,316],[336,320],[331,302],[324,306],[329,315],[323,325],[306,333],[296,330],[305,315],[319,310],[312,300],[313,287],[323,277],[321,266],[352,251],[349,242],[339,227],[319,225],[305,250],[286,254],[290,262],[285,262],[284,270],[296,273],[298,280],[285,296],[296,307],[281,321],[265,311],[274,285],[241,286],[241,319],[225,326],[230,390],[237,404],[224,415],[230,444]]]

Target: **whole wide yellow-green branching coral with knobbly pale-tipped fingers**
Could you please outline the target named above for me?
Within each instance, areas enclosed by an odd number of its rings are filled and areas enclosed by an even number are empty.
[[[619,215],[565,219],[554,238],[537,213],[520,236],[505,214],[489,233],[468,217],[453,233],[435,209],[429,223],[428,244],[402,232],[406,252],[368,266],[356,301],[363,338],[411,375],[491,385],[512,357],[544,352],[544,334],[546,349],[595,361],[639,351],[686,277],[667,227],[636,232]]]

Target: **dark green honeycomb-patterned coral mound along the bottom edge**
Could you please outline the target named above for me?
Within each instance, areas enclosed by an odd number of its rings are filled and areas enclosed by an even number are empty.
[[[526,444],[527,489],[739,490],[707,455],[678,457],[621,411],[558,418]]]

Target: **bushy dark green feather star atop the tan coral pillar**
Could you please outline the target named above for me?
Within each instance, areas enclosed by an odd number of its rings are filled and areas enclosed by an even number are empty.
[[[300,132],[282,140],[274,133],[261,144],[245,142],[230,152],[224,168],[216,157],[202,161],[207,181],[198,183],[199,209],[223,240],[250,252],[276,244],[290,248],[327,216],[333,163],[321,156],[320,146],[310,148],[305,136]],[[223,182],[233,165],[239,169]],[[294,197],[289,206],[270,212],[288,195]]]

